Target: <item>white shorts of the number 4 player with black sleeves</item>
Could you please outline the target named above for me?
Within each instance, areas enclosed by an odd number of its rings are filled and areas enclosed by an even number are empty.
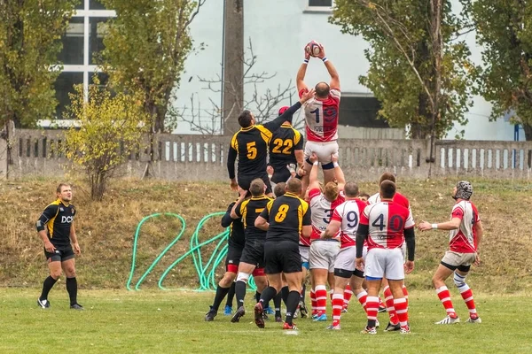
[[[391,281],[404,279],[404,258],[401,249],[368,250],[365,258],[364,275],[371,278],[384,278]]]

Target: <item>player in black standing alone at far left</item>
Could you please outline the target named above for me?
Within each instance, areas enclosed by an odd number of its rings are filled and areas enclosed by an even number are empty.
[[[37,232],[44,242],[44,255],[50,269],[50,276],[44,280],[43,292],[37,299],[37,304],[43,309],[50,307],[48,293],[58,281],[62,270],[66,274],[70,308],[83,310],[83,306],[77,303],[74,253],[79,255],[82,250],[77,242],[73,223],[76,210],[70,204],[72,188],[66,183],[60,183],[56,193],[58,199],[48,205],[37,220]]]

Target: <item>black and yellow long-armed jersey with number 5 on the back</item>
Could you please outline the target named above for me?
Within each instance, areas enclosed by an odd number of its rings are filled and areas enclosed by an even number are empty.
[[[227,170],[229,178],[235,178],[235,161],[239,158],[240,176],[250,178],[266,173],[268,145],[274,132],[285,122],[292,122],[293,113],[301,108],[297,102],[288,108],[278,118],[263,125],[243,127],[231,138],[231,146],[227,156]]]

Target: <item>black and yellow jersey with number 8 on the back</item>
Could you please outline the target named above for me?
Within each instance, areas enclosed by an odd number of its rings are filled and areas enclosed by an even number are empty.
[[[309,204],[290,192],[270,201],[261,216],[270,223],[266,241],[299,243],[302,227],[312,222]]]

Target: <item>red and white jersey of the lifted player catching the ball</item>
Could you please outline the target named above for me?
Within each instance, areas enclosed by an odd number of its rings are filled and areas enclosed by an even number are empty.
[[[306,92],[307,89],[301,89],[300,97]],[[309,142],[332,142],[338,139],[340,89],[331,89],[325,99],[310,98],[303,106]]]

